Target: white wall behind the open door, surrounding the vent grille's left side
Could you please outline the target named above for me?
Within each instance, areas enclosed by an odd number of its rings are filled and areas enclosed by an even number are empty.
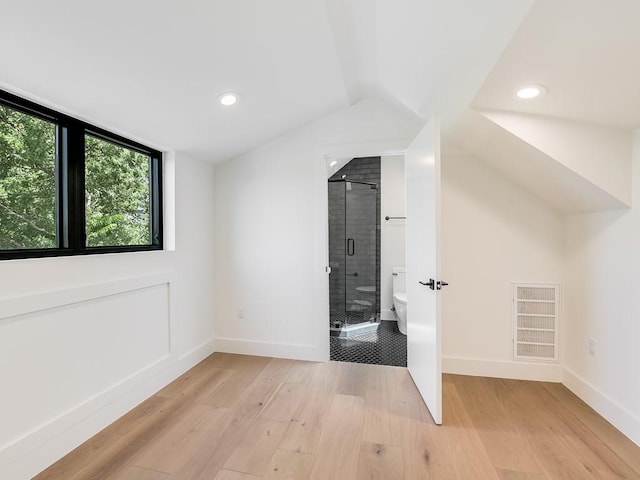
[[[442,158],[443,369],[561,380],[515,362],[512,284],[563,283],[562,217],[470,155]]]

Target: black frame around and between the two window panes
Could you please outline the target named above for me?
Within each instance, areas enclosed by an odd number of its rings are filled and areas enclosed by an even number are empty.
[[[0,260],[162,250],[162,152],[0,89],[0,105],[56,125],[56,242],[53,248],[0,250]],[[151,243],[86,245],[85,135],[149,155]]]

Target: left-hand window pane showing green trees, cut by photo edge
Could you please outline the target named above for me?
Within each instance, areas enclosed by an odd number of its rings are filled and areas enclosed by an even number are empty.
[[[0,105],[0,250],[55,247],[56,125]]]

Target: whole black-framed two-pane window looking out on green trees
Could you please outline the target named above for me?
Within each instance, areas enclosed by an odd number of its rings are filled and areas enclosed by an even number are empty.
[[[162,154],[0,91],[0,259],[162,249]]]

